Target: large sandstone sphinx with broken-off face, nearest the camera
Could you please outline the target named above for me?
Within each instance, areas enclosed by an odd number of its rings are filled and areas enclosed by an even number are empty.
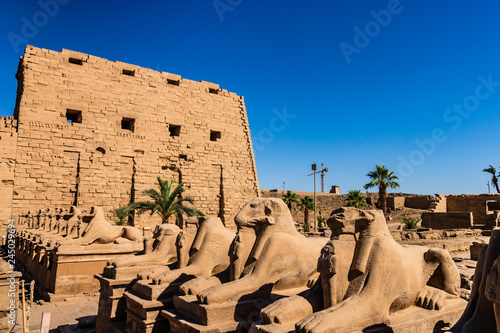
[[[415,303],[439,310],[458,298],[460,278],[449,253],[397,244],[380,211],[341,208],[327,223],[332,238],[318,261],[322,288],[265,308],[267,323],[295,320],[297,332],[349,332],[387,324]],[[324,310],[311,313],[321,297]]]

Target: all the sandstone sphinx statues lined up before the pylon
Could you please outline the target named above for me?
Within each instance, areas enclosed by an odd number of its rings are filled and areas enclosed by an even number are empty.
[[[404,311],[408,318],[423,314],[440,318],[440,311],[461,313],[465,308],[459,299],[460,275],[449,252],[398,244],[380,210],[333,211],[327,220],[330,239],[299,233],[287,206],[275,198],[251,200],[235,222],[236,232],[218,217],[189,218],[182,230],[163,224],[152,238],[144,239],[135,227],[109,223],[99,207],[88,213],[71,207],[24,213],[18,234],[50,246],[144,242],[144,251],[112,259],[105,270],[136,272],[132,294],[141,285],[178,286],[171,305],[177,312],[163,313],[172,332],[190,332],[189,320],[210,326],[208,319],[193,319],[197,311],[180,324],[181,310],[190,311],[183,299],[204,309],[235,304],[224,308],[231,311],[248,300],[269,300],[261,307],[260,318],[252,319],[251,332],[391,329],[394,318]],[[478,262],[471,300],[450,332],[497,332],[499,238],[500,231],[494,230]],[[413,308],[426,312],[408,311]],[[434,331],[439,320],[435,321]]]

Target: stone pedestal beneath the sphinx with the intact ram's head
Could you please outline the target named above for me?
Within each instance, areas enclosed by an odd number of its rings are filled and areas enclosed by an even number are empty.
[[[260,319],[260,310],[278,299],[295,295],[304,289],[275,292],[268,298],[251,298],[248,295],[238,302],[201,304],[196,296],[174,296],[174,308],[161,315],[170,322],[173,333],[194,332],[245,332]]]

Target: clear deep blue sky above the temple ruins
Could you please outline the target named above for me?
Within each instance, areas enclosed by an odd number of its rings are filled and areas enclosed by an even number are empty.
[[[29,43],[245,96],[261,188],[310,191],[316,162],[345,193],[385,163],[398,192],[485,193],[500,167],[497,1],[54,1],[2,4],[0,116]]]

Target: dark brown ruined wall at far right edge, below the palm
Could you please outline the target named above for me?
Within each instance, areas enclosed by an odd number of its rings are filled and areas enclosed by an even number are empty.
[[[475,225],[486,225],[489,221],[487,202],[500,200],[500,194],[463,194],[446,196],[446,211],[449,213],[472,212]]]

